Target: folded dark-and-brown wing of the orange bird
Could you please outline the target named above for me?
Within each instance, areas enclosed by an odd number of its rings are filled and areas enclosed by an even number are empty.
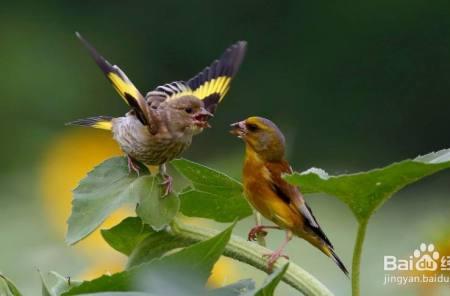
[[[268,163],[266,164],[266,168],[270,173],[272,189],[275,191],[277,196],[287,203],[292,209],[301,214],[304,219],[305,226],[320,237],[328,246],[333,248],[333,245],[323,232],[322,228],[320,228],[316,217],[314,217],[311,208],[303,199],[303,196],[298,188],[287,183],[282,178],[282,174],[292,173],[292,169],[289,164],[287,162]]]

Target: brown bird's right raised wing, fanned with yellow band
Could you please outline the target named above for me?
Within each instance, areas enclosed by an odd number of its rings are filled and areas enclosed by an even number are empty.
[[[245,56],[247,43],[239,41],[230,46],[209,67],[191,78],[187,82],[175,81],[158,86],[148,95],[159,95],[173,100],[185,95],[193,95],[203,100],[205,108],[214,113],[217,104],[223,99],[233,77]]]

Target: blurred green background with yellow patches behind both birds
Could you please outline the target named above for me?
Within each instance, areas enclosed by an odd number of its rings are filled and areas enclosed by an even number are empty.
[[[450,147],[449,11],[448,1],[418,0],[3,1],[0,271],[25,295],[38,295],[37,269],[88,277],[124,262],[98,237],[75,247],[63,241],[70,189],[94,164],[120,154],[107,133],[64,123],[127,111],[75,31],[142,92],[188,79],[231,43],[247,40],[214,128],[185,157],[239,177],[243,147],[228,125],[261,115],[285,132],[296,170],[341,174]],[[362,263],[364,295],[450,295],[448,286],[383,286],[384,255],[407,257],[421,242],[450,253],[449,177],[402,191],[375,215]],[[332,197],[307,199],[350,266],[351,212]],[[251,223],[237,232],[245,235]],[[281,239],[271,235],[270,247]],[[288,253],[337,295],[349,295],[350,282],[311,246],[297,239]],[[230,261],[216,273],[223,275],[216,285],[264,277]],[[295,294],[284,285],[278,291]]]

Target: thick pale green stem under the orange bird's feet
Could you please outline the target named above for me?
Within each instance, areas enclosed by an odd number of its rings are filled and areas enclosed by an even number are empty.
[[[219,233],[219,231],[214,229],[185,224],[179,221],[179,219],[173,221],[172,232],[174,235],[191,243],[209,239]],[[268,253],[271,253],[271,250],[248,242],[235,235],[231,236],[224,251],[224,255],[227,257],[270,273],[267,268],[267,262],[263,258],[263,255]],[[281,268],[287,262],[288,260],[280,258],[274,267],[277,269]],[[289,264],[289,268],[284,274],[282,281],[302,292],[304,295],[333,295],[321,282],[292,262]]]

